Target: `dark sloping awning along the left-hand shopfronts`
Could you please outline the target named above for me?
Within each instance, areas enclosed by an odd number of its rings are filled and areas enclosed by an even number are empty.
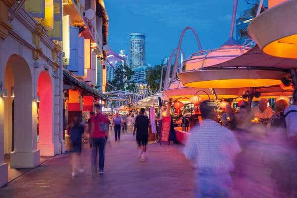
[[[87,92],[90,92],[95,97],[99,97],[101,99],[108,100],[107,96],[100,93],[97,89],[94,89],[94,88],[90,87],[87,83],[78,80],[70,72],[68,72],[66,70],[63,70],[63,79],[69,80],[75,86],[78,86],[79,88],[81,88],[81,89],[83,89],[83,90],[85,90]]]

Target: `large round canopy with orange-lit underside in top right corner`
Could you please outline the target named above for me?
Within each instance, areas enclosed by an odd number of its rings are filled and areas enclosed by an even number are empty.
[[[297,59],[297,1],[269,8],[252,20],[248,34],[268,55]]]

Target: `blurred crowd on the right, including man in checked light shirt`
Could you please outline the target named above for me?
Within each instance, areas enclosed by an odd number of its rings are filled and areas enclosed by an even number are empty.
[[[297,198],[297,89],[293,104],[277,101],[274,114],[267,102],[242,102],[236,114],[227,105],[223,126],[208,101],[200,104],[202,125],[192,117],[184,148],[196,164],[197,198]]]

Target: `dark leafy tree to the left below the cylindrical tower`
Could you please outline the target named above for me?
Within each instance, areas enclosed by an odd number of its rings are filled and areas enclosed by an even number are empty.
[[[133,75],[134,71],[132,71],[127,65],[116,68],[114,70],[114,79],[112,81],[108,81],[108,84],[116,87],[116,89],[107,84],[106,90],[133,91],[135,86],[135,83],[131,80]]]

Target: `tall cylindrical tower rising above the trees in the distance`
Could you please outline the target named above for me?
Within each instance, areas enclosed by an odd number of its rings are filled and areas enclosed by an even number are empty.
[[[129,35],[129,66],[132,70],[146,65],[146,36],[143,33],[131,33]]]

